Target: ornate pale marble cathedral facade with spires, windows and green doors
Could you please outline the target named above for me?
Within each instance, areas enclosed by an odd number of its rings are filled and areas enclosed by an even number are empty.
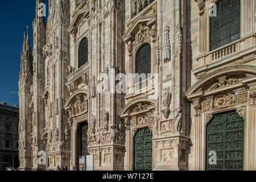
[[[94,170],[256,169],[255,0],[49,0],[47,22],[42,3],[21,54],[21,170],[86,155]]]

